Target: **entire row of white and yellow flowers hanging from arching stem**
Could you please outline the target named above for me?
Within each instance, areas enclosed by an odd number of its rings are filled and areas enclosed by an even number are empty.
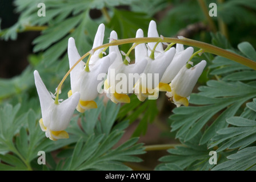
[[[93,49],[102,46],[104,32],[105,26],[100,24]],[[153,20],[149,24],[147,36],[161,39]],[[136,38],[143,38],[141,29],[137,31]],[[110,42],[117,39],[117,33],[112,31]],[[133,64],[129,64],[129,53],[119,51],[118,46],[110,46],[108,55],[103,49],[91,53],[89,71],[86,71],[85,63],[80,61],[70,72],[71,90],[68,93],[69,98],[65,101],[56,101],[55,96],[46,89],[39,73],[34,71],[35,86],[42,109],[42,119],[39,123],[42,131],[46,132],[46,137],[51,140],[68,138],[69,135],[64,130],[69,125],[74,110],[83,113],[86,109],[97,108],[94,100],[103,83],[106,96],[114,103],[129,103],[129,93],[136,94],[140,101],[145,101],[146,98],[156,99],[160,91],[166,92],[169,100],[177,106],[189,105],[190,94],[205,68],[206,61],[203,60],[193,67],[189,59],[194,49],[184,49],[182,44],[177,44],[176,48],[168,46],[164,50],[161,42],[134,43],[133,48]],[[69,39],[67,52],[71,68],[81,58],[73,38]],[[125,61],[122,55],[125,55]],[[101,74],[106,75],[105,81],[99,79]]]

